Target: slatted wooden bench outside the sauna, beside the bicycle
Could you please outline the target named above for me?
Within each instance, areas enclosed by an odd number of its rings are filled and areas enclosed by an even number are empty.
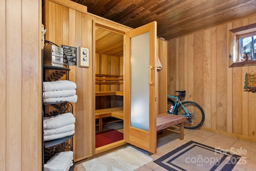
[[[156,131],[180,125],[180,131],[174,131],[180,134],[180,140],[184,139],[184,122],[187,120],[185,116],[172,115],[168,113],[161,113],[156,115]]]

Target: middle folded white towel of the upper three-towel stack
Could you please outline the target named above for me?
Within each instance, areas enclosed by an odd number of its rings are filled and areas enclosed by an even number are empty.
[[[45,91],[43,92],[43,98],[48,99],[52,97],[68,97],[76,94],[75,89],[65,89],[59,91]]]

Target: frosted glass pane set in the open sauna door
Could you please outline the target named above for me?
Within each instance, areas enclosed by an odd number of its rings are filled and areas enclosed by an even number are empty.
[[[131,38],[131,126],[149,128],[149,33]]]

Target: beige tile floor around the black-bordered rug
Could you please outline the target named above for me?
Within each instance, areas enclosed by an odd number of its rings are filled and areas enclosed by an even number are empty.
[[[178,134],[170,131],[166,131],[164,135],[158,135],[156,153],[151,157],[158,159],[188,141],[196,141],[240,155],[243,160],[238,161],[233,171],[256,171],[256,143],[200,129],[185,129],[184,140],[180,140]],[[77,164],[74,171],[85,171],[82,163]],[[135,171],[166,171],[166,169],[151,161]]]

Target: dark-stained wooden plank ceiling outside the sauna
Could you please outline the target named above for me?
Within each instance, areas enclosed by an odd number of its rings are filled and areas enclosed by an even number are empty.
[[[157,35],[170,40],[255,14],[256,0],[72,0],[88,12],[137,28],[157,22]]]

